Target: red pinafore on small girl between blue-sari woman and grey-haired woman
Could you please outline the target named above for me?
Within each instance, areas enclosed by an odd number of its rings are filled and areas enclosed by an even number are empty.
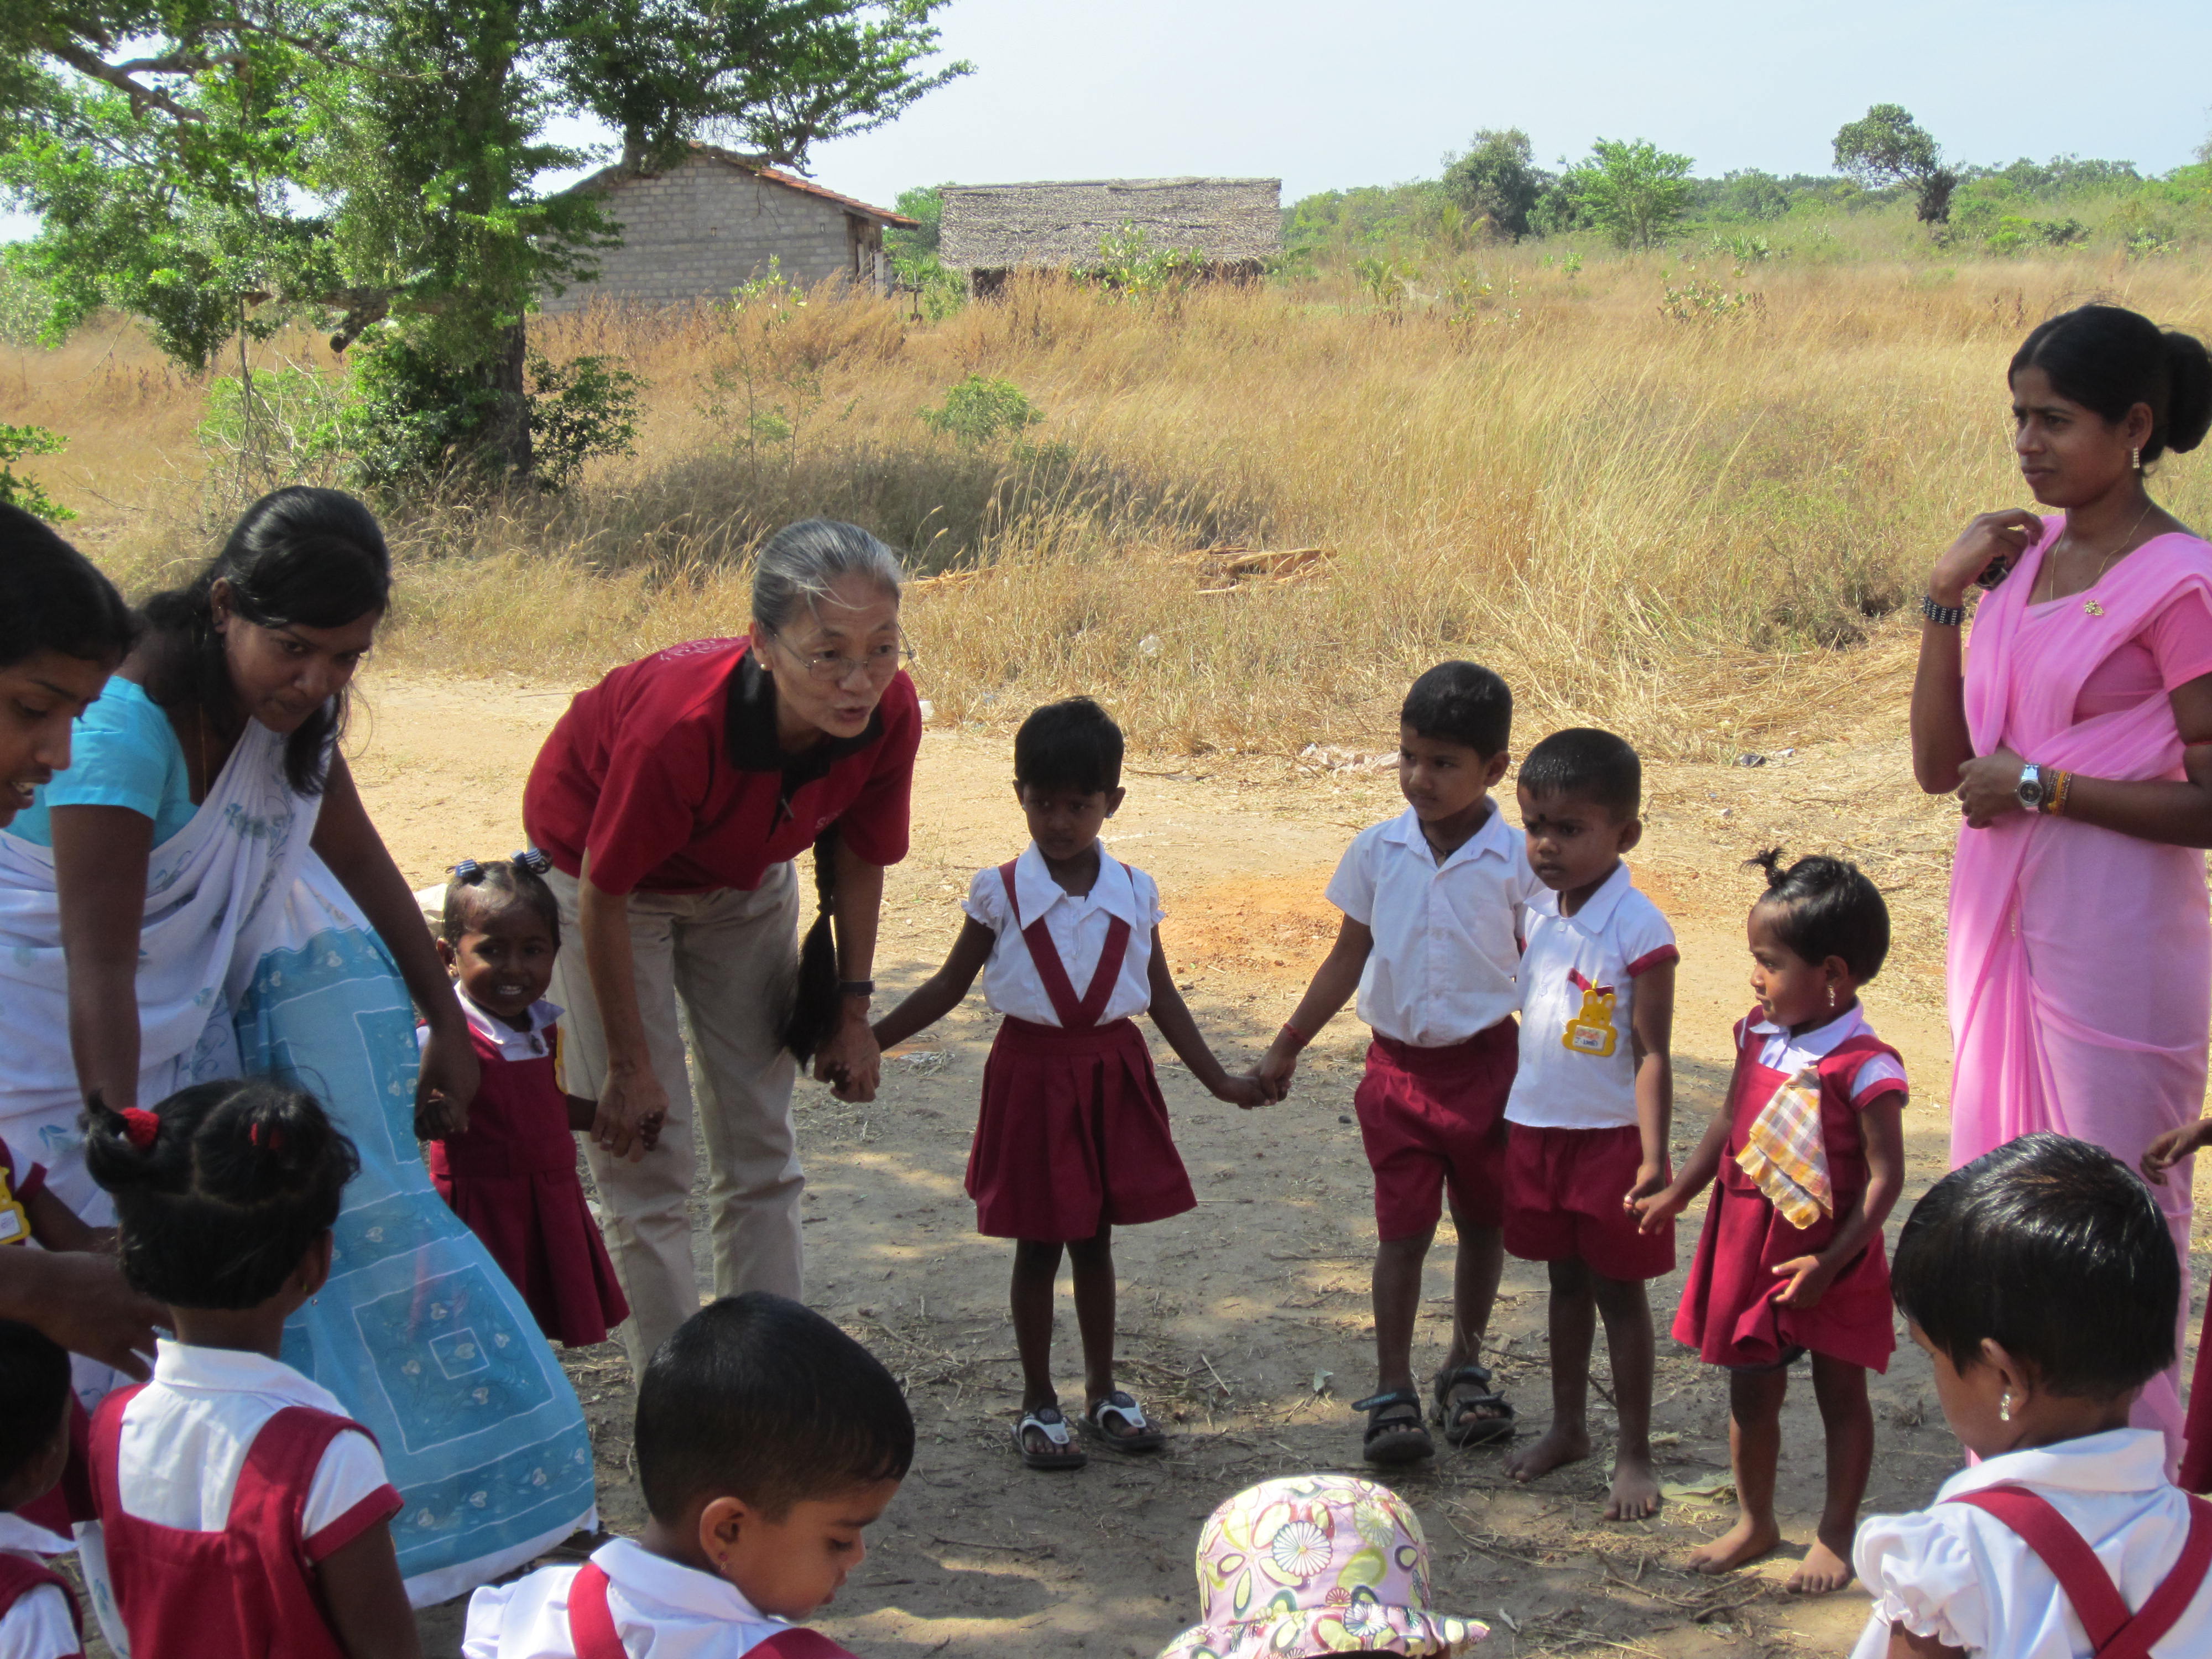
[[[538,1329],[568,1347],[604,1343],[630,1305],[584,1203],[553,1055],[509,1060],[473,1024],[469,1042],[484,1082],[467,1133],[429,1144],[429,1179],[522,1292]]]

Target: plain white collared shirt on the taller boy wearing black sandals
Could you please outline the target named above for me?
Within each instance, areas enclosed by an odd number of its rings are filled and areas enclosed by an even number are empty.
[[[1544,891],[1498,803],[1440,865],[1407,807],[1360,830],[1327,900],[1374,933],[1358,1013],[1385,1037],[1444,1048],[1520,1006],[1522,907]]]

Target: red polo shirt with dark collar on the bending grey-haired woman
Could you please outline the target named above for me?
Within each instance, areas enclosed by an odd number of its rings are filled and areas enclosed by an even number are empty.
[[[531,841],[606,894],[759,887],[832,823],[872,865],[907,856],[922,710],[898,675],[856,739],[776,750],[774,677],[750,639],[695,639],[577,692],[522,792]]]

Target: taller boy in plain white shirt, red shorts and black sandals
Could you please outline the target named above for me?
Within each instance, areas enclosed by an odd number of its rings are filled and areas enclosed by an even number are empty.
[[[1360,830],[1329,878],[1345,914],[1336,945],[1259,1068],[1281,1097],[1298,1051],[1358,991],[1374,1029],[1354,1110],[1376,1177],[1376,1391],[1352,1409],[1367,1413],[1363,1451],[1376,1464],[1436,1453],[1413,1389],[1413,1321],[1447,1192],[1460,1256],[1436,1418],[1455,1447],[1513,1436],[1513,1407],[1480,1365],[1504,1267],[1520,916],[1544,891],[1522,832],[1491,801],[1511,734],[1513,692],[1489,668],[1447,661],[1413,681],[1398,712],[1407,812]]]

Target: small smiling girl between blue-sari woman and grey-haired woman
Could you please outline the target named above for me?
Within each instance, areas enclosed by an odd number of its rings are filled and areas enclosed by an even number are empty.
[[[429,1179],[522,1292],[538,1329],[586,1347],[630,1316],[584,1203],[575,1135],[593,1102],[560,1086],[560,1009],[544,1002],[560,907],[542,852],[453,865],[438,956],[453,971],[484,1082],[469,1128],[429,1144]],[[650,1146],[648,1135],[646,1144]]]

